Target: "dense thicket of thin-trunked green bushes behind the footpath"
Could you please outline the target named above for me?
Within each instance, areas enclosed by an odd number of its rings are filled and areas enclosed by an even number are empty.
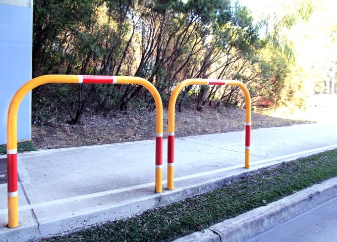
[[[164,106],[187,78],[240,80],[253,95],[274,103],[282,94],[284,78],[277,77],[286,75],[280,70],[287,62],[263,54],[274,46],[260,37],[261,25],[254,25],[246,7],[229,0],[37,0],[33,24],[34,77],[138,76],[154,84]],[[187,87],[179,107],[191,99],[198,110],[206,104],[238,105],[238,92],[235,87]],[[152,97],[137,85],[47,85],[33,92],[33,107],[45,115],[66,112],[76,124],[88,102],[109,116],[134,99],[153,107]]]

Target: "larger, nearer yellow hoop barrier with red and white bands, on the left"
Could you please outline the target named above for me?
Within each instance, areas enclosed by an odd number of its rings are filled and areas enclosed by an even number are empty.
[[[17,121],[22,99],[33,88],[47,83],[91,83],[91,84],[138,84],[150,91],[156,106],[155,140],[155,192],[162,192],[162,102],[157,89],[147,80],[126,76],[87,76],[87,75],[46,75],[25,83],[12,98],[7,119],[7,176],[8,176],[8,226],[19,225],[18,178],[17,178]]]

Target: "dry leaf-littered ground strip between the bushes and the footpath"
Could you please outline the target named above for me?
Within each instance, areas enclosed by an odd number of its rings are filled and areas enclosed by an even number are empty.
[[[164,138],[167,131],[167,110],[163,114]],[[252,129],[289,126],[308,123],[252,113]],[[186,109],[176,112],[175,135],[186,137],[215,133],[227,133],[245,129],[245,110],[226,108],[203,109],[202,112]],[[155,139],[155,112],[118,112],[110,118],[103,113],[87,112],[78,125],[57,123],[54,120],[33,125],[32,141],[37,149],[55,149],[86,145]]]

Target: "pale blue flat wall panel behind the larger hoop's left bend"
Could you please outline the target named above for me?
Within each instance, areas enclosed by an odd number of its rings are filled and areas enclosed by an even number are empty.
[[[0,144],[16,91],[32,78],[33,0],[0,0]],[[31,92],[18,113],[18,141],[31,140]]]

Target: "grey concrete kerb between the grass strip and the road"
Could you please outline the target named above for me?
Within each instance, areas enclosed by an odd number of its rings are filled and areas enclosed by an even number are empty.
[[[174,241],[245,241],[335,196],[337,177]]]

